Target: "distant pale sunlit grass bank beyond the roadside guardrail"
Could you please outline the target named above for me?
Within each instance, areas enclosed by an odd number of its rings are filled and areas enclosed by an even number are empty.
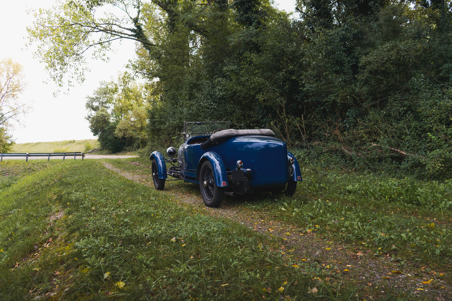
[[[85,144],[89,143],[91,149],[99,148],[97,139],[87,140],[66,140],[54,142],[34,142],[34,143],[14,143],[13,153],[59,153],[85,151]]]

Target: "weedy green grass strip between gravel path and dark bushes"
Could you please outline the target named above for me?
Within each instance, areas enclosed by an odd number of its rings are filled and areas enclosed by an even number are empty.
[[[150,160],[129,160],[142,166],[112,162],[126,171],[149,174],[151,181]],[[240,206],[273,212],[306,231],[372,249],[375,256],[392,254],[395,262],[409,260],[439,268],[452,265],[452,181],[396,179],[313,165],[302,167],[301,173],[303,182],[293,198],[275,200],[264,195],[248,198]],[[178,184],[166,183],[169,187]]]

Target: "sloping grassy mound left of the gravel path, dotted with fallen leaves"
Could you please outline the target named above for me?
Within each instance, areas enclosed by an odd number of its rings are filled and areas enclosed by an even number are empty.
[[[271,241],[179,207],[97,161],[24,168],[34,164],[0,165],[22,170],[1,191],[1,300],[242,300],[278,298],[280,287],[297,296],[311,285]]]

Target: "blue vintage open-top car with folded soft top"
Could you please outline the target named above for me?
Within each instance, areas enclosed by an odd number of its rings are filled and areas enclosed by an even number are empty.
[[[169,159],[151,154],[152,179],[157,190],[165,188],[168,175],[199,184],[208,207],[218,207],[224,195],[263,191],[292,196],[301,181],[295,156],[272,130],[235,130],[229,122],[184,122],[184,143]],[[169,163],[169,167],[167,167]]]

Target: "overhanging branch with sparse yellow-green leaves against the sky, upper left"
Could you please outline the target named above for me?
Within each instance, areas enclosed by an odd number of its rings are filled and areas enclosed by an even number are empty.
[[[136,41],[146,48],[154,45],[141,24],[141,9],[147,5],[140,0],[67,0],[52,9],[39,9],[33,26],[27,28],[28,46],[37,44],[34,56],[59,85],[64,75],[69,75],[69,84],[73,79],[83,81],[90,50],[93,58],[108,60],[105,52],[115,40]]]

